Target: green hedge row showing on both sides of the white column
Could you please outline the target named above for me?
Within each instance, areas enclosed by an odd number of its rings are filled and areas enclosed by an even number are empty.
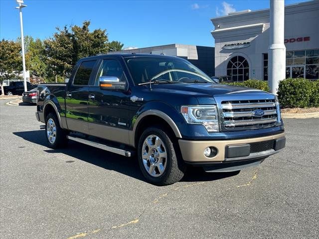
[[[248,80],[244,82],[224,83],[233,86],[250,87],[269,92],[267,81]],[[280,81],[278,99],[282,108],[319,107],[319,80],[288,78]]]

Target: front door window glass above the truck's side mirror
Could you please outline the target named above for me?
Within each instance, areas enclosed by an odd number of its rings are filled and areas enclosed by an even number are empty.
[[[99,78],[101,76],[114,76],[120,79],[120,81],[126,81],[123,68],[117,60],[103,60],[102,67],[98,74]]]

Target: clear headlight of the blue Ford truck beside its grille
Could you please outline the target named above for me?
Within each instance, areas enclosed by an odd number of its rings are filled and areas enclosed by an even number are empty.
[[[187,123],[203,124],[208,132],[219,131],[216,106],[182,106],[180,113]]]

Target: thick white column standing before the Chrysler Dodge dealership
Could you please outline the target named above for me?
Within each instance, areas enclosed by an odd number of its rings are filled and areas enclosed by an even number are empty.
[[[268,84],[277,94],[279,81],[286,78],[285,1],[270,0],[270,42],[268,47]]]

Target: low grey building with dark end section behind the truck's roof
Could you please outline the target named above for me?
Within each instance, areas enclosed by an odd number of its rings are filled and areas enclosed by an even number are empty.
[[[195,46],[184,44],[169,44],[162,46],[151,46],[144,48],[133,48],[123,51],[110,52],[116,53],[143,53],[143,54],[158,54],[165,56],[177,56],[183,58],[200,70],[205,72],[208,76],[214,76],[214,47],[210,46]]]

